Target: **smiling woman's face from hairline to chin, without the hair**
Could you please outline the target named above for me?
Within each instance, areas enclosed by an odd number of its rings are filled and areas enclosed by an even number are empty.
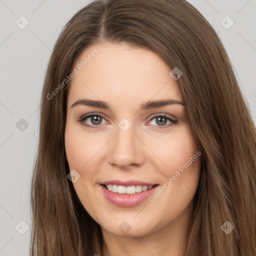
[[[84,208],[116,235],[184,225],[201,157],[171,68],[148,49],[110,42],[73,68],[65,150]]]

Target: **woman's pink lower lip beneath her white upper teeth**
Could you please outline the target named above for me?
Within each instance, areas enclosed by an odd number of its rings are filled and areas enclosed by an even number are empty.
[[[148,189],[146,191],[141,191],[139,193],[134,194],[119,194],[114,193],[112,191],[109,191],[107,188],[105,188],[103,185],[100,185],[105,197],[110,201],[111,203],[122,206],[122,207],[131,207],[139,204],[140,202],[144,201],[147,197],[149,197],[155,189],[159,186],[156,185],[152,187],[151,189]]]

